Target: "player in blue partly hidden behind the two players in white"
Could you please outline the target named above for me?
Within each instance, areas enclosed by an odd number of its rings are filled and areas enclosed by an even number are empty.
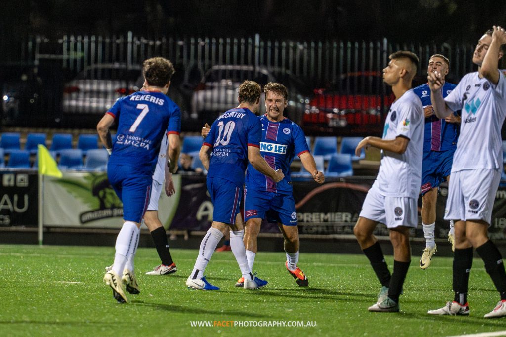
[[[448,74],[449,67],[450,61],[443,55],[436,54],[429,59],[427,72],[438,71],[444,78]],[[443,98],[448,96],[453,88],[455,88],[454,84],[445,82],[441,91]],[[421,165],[421,222],[424,228],[426,247],[419,265],[421,269],[427,269],[431,265],[432,256],[437,251],[434,228],[436,226],[438,189],[442,182],[450,180],[453,153],[457,148],[460,116],[454,112],[443,119],[436,117],[428,83],[414,88],[413,91],[420,98],[425,114],[424,160]],[[453,249],[453,222],[451,221],[448,240],[452,243]]]

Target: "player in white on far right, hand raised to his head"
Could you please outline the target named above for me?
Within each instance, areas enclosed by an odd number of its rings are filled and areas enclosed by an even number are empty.
[[[478,71],[462,77],[443,99],[444,79],[439,72],[428,75],[431,100],[439,118],[462,109],[462,123],[451,167],[445,219],[455,223],[453,291],[455,296],[434,315],[469,315],[467,302],[473,248],[485,264],[500,301],[486,318],[506,316],[506,273],[502,257],[488,239],[495,193],[502,170],[501,125],[506,115],[506,71],[498,69],[506,44],[506,32],[499,26],[478,40],[473,63]],[[503,48],[503,47],[502,47]]]

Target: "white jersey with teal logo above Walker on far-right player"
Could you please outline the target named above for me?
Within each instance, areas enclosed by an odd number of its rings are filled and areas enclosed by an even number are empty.
[[[501,127],[506,115],[506,71],[499,70],[497,86],[478,72],[462,77],[445,99],[448,107],[462,110],[460,136],[451,172],[502,168]]]

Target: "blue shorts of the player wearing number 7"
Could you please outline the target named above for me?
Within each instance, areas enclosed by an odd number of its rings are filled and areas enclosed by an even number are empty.
[[[123,202],[123,219],[140,223],[151,195],[152,176],[130,165],[107,165],[107,178]]]

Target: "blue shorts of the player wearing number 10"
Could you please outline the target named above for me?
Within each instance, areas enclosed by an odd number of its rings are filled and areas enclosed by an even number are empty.
[[[235,224],[239,213],[242,187],[221,178],[207,178],[207,191],[213,201],[213,221],[224,224]]]

